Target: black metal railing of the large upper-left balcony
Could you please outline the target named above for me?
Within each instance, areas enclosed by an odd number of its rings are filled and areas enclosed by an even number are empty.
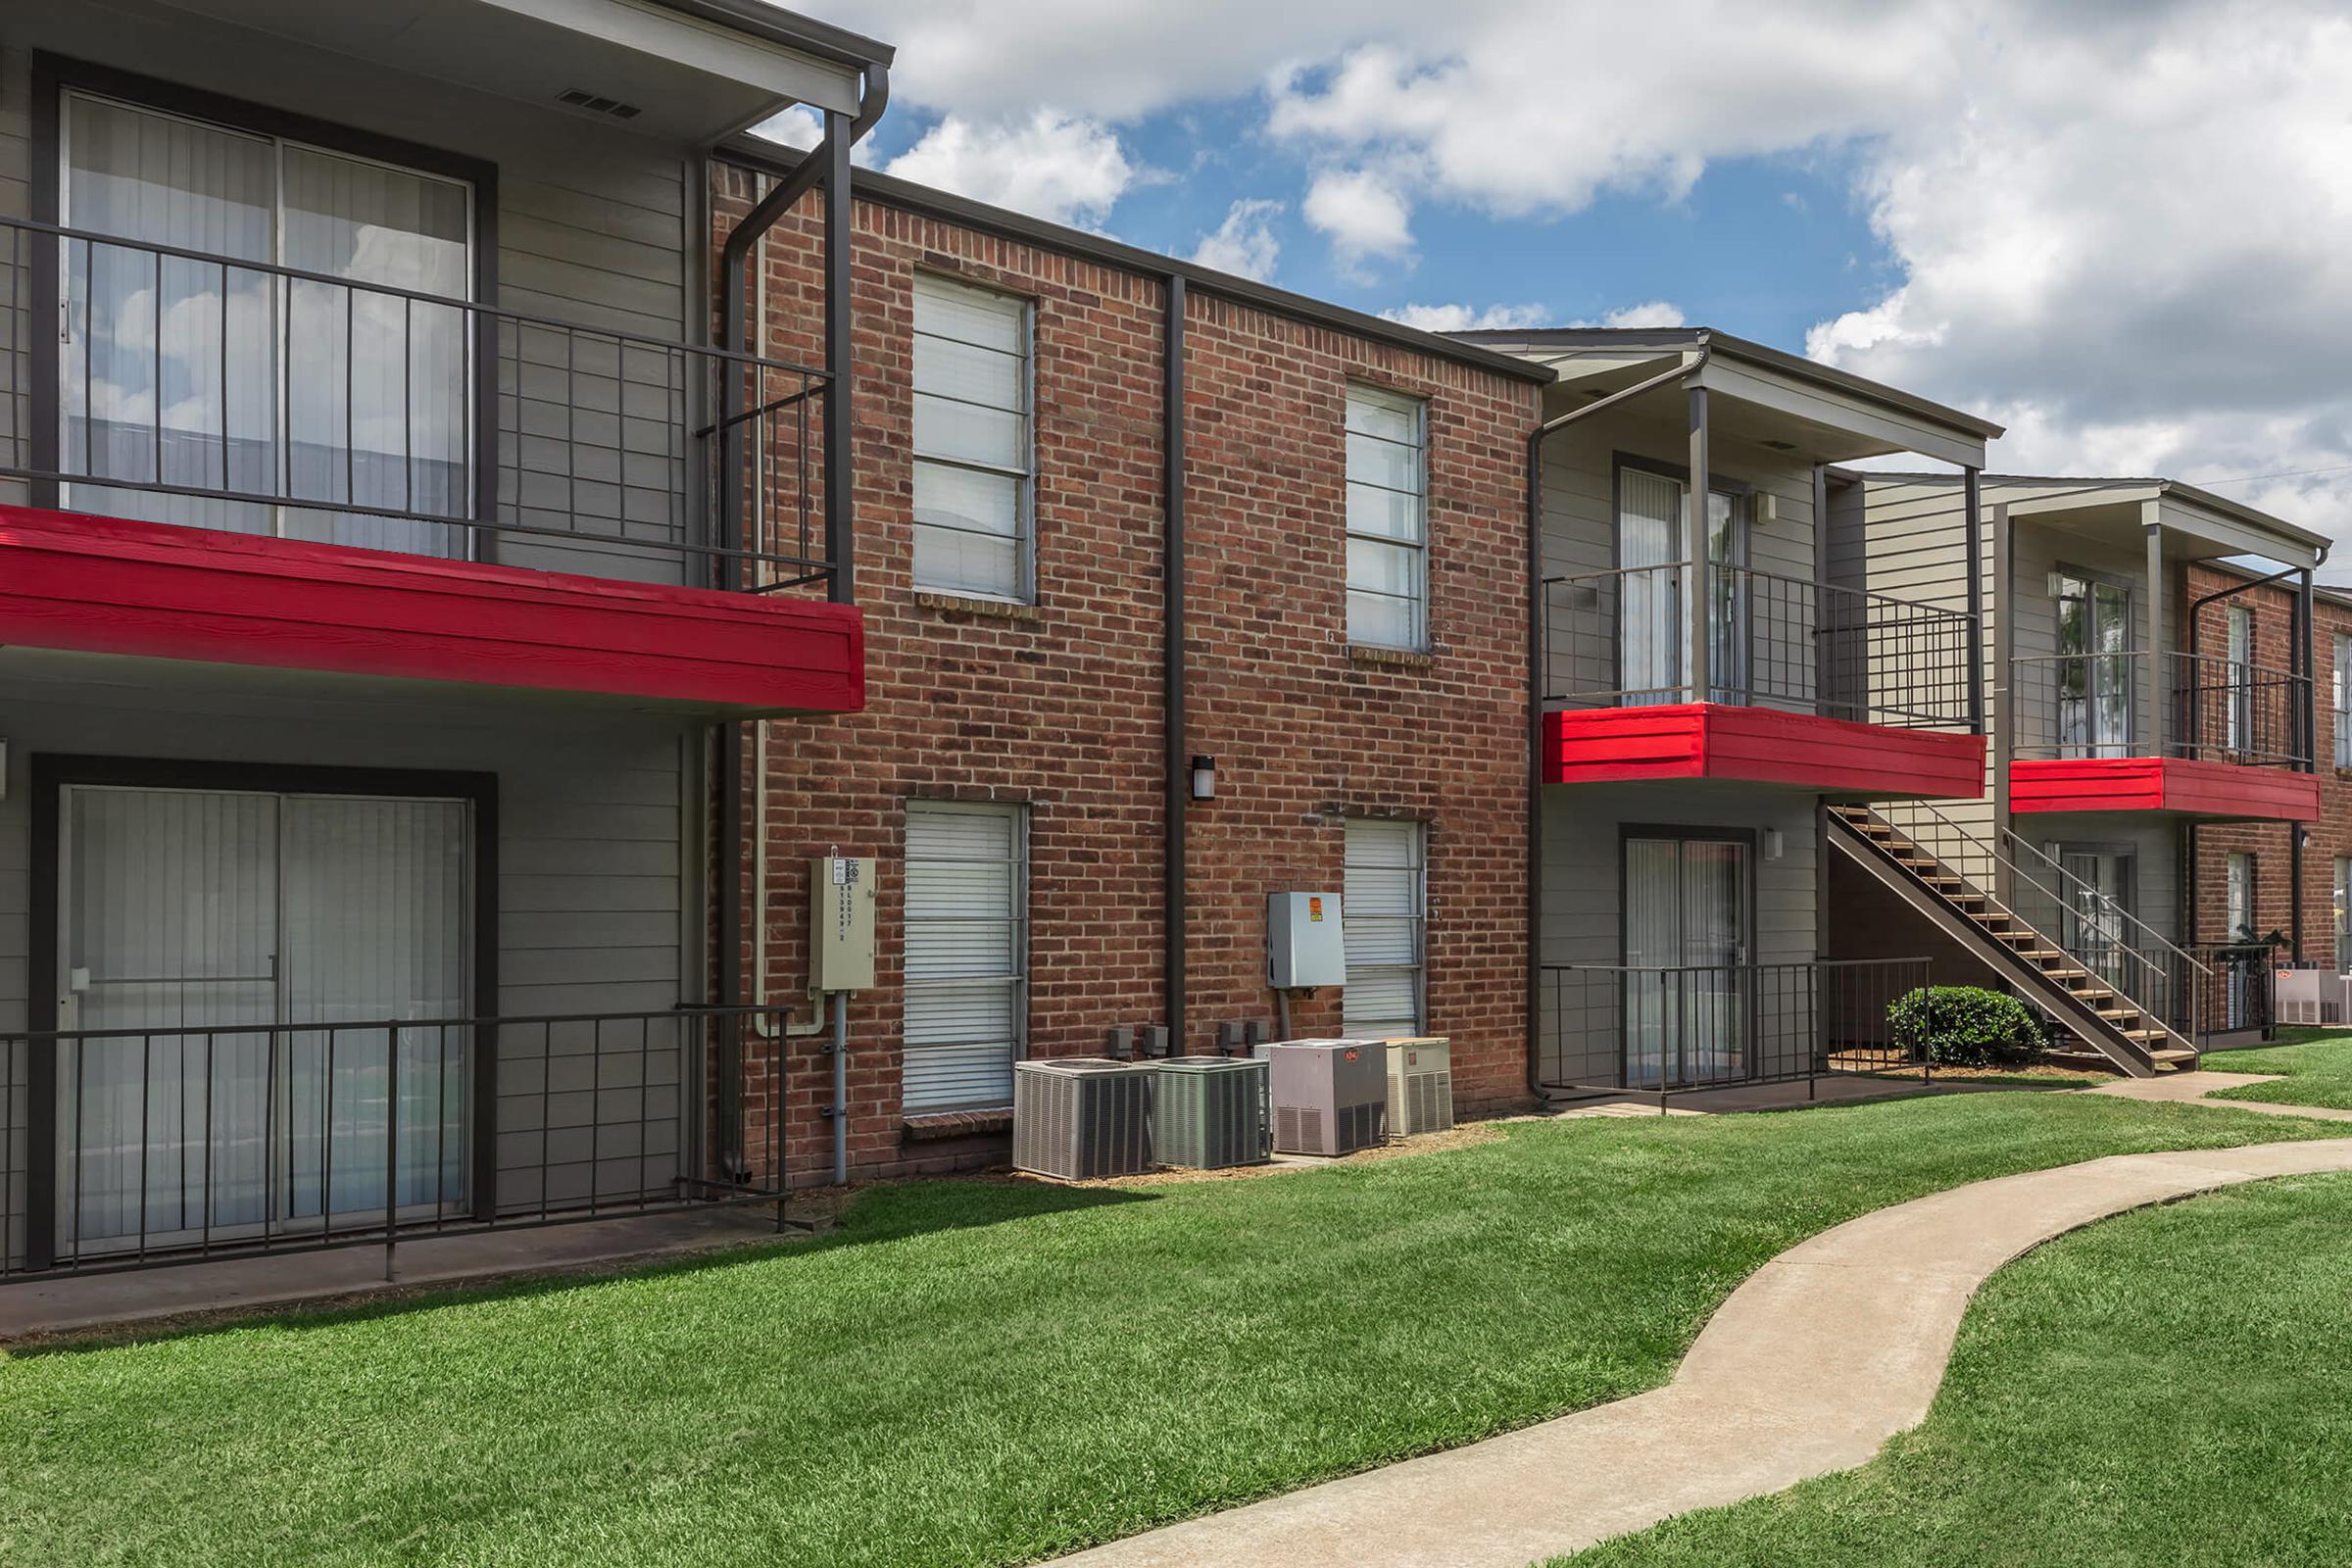
[[[720,588],[830,576],[821,369],[0,219],[0,477],[66,510]]]

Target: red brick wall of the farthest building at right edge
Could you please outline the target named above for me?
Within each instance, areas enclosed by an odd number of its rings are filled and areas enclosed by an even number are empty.
[[[2197,599],[2241,581],[2241,576],[2230,571],[2190,567],[2187,595]],[[2199,651],[2223,654],[2230,646],[2227,604],[2253,609],[2253,661],[2272,670],[2286,670],[2293,642],[2293,590],[2284,585],[2251,588],[2234,599],[2206,604],[2197,611]],[[2352,637],[2352,609],[2317,599],[2312,623],[2312,675],[2319,682],[2314,701],[2319,712],[2319,820],[2310,825],[2312,837],[2303,849],[2303,957],[2326,961],[2336,954],[2336,856],[2352,856],[2352,769],[2336,766],[2336,715],[2331,710],[2336,637]],[[2209,823],[2197,830],[2197,940],[2218,943],[2227,936],[2227,856],[2232,851],[2251,851],[2256,856],[2256,931],[2267,936],[2277,929],[2293,936],[2296,900],[2288,832],[2286,823]]]

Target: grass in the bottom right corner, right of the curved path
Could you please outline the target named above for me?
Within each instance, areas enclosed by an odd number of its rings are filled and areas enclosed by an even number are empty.
[[[2352,1178],[2103,1220],[1985,1284],[1877,1460],[1576,1568],[2241,1568],[2352,1552]]]

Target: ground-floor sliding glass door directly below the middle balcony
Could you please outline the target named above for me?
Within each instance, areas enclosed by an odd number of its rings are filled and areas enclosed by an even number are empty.
[[[1748,1077],[1748,844],[1625,839],[1625,1084]]]

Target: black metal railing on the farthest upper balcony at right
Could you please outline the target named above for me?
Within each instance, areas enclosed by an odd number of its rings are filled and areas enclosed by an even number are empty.
[[[2016,755],[2049,759],[2187,757],[2305,766],[2307,679],[2213,654],[2157,654],[2157,722],[2147,715],[2150,654],[2042,654],[2011,661]],[[2152,733],[2154,731],[2154,733]]]

